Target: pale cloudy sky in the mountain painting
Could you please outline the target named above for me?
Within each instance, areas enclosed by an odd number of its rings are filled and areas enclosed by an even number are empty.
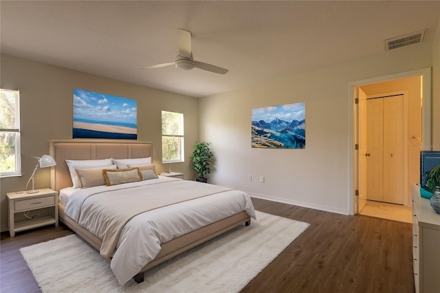
[[[275,118],[288,122],[305,119],[305,102],[252,109],[252,121],[271,122]]]

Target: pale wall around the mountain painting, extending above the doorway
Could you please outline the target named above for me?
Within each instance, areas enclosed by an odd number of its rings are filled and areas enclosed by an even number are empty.
[[[201,99],[200,139],[212,143],[216,158],[210,182],[256,197],[348,214],[353,111],[349,83],[431,66],[432,43],[421,43]],[[294,102],[305,102],[305,149],[252,149],[252,109]],[[261,175],[264,183],[259,182]]]

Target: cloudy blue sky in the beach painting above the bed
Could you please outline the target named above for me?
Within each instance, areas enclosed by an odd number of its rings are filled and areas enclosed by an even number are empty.
[[[137,101],[74,89],[74,121],[78,119],[137,124]]]

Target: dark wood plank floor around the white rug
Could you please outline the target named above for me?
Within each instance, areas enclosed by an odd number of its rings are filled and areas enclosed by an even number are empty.
[[[411,224],[252,201],[256,210],[311,226],[242,292],[415,292]],[[0,292],[40,292],[19,248],[71,233],[65,226],[19,232],[14,238],[2,232]]]

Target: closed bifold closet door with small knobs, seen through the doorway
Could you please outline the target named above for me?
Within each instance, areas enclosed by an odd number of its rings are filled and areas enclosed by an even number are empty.
[[[403,96],[367,104],[367,199],[404,204]]]

